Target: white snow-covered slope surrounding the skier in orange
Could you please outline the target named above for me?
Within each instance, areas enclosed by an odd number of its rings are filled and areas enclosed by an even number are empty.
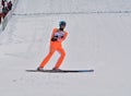
[[[0,34],[0,96],[131,96],[131,13],[92,13],[130,10],[130,0],[19,0]],[[94,73],[25,72],[48,53],[51,29],[60,20],[69,32],[61,69]],[[56,52],[45,69],[58,57]]]

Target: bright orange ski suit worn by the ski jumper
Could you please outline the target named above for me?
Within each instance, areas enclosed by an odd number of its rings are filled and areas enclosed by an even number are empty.
[[[55,36],[55,34],[59,34],[60,31],[59,28],[53,28],[52,29],[52,35],[51,35],[51,38]],[[44,68],[46,65],[46,63],[50,60],[51,56],[55,53],[55,51],[58,51],[61,56],[59,57],[56,65],[55,65],[55,69],[59,69],[59,67],[61,65],[64,57],[66,57],[66,51],[64,49],[62,48],[62,41],[66,39],[66,37],[68,36],[68,32],[64,32],[62,31],[62,38],[58,38],[56,41],[52,41],[50,39],[50,50],[49,50],[49,53],[46,56],[46,58],[44,59],[44,61],[40,63],[39,68]]]

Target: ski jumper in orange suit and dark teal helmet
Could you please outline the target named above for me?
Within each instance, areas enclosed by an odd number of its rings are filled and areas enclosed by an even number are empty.
[[[67,38],[68,32],[64,31],[66,27],[66,22],[60,21],[59,23],[59,28],[53,28],[52,29],[52,35],[50,38],[50,50],[49,53],[46,56],[46,58],[43,60],[40,65],[37,68],[37,70],[43,70],[44,67],[47,64],[47,62],[50,60],[51,56],[58,51],[60,53],[60,57],[52,70],[60,70],[60,65],[66,57],[66,51],[62,48],[62,41]]]

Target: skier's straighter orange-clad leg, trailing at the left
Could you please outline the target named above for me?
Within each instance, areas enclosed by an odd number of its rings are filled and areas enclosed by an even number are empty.
[[[49,53],[46,56],[44,61],[40,63],[39,68],[44,68],[47,64],[47,62],[50,60],[51,56],[53,55],[55,50],[56,50],[55,48],[50,47]]]

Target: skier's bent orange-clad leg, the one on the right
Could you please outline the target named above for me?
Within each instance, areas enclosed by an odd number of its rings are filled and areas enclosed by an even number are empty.
[[[58,48],[58,51],[60,53],[60,58],[58,59],[58,61],[57,61],[53,69],[59,69],[59,67],[61,65],[61,63],[62,63],[62,61],[63,61],[63,59],[66,57],[66,51],[64,51],[63,48]]]

